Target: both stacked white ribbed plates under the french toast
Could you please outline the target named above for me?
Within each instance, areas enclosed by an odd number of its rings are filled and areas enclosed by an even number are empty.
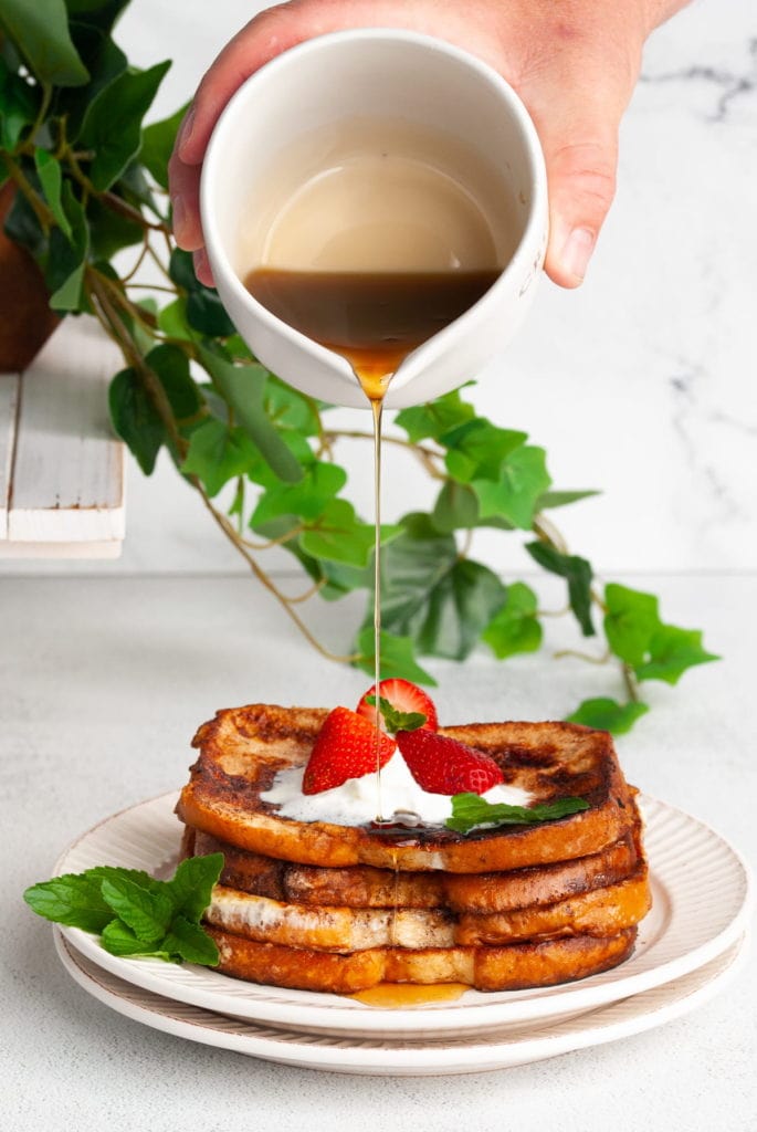
[[[72,844],[57,873],[111,864],[171,875],[177,796],[115,814]],[[695,818],[640,798],[654,907],[634,955],[612,971],[535,990],[401,1009],[239,983],[208,968],[120,959],[55,928],[63,966],[89,994],[160,1030],[268,1061],[342,1073],[474,1073],[612,1041],[679,1018],[739,967],[748,871]]]

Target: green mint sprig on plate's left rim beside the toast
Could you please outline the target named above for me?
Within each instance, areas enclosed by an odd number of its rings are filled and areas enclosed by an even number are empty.
[[[182,860],[170,881],[101,865],[34,884],[24,900],[37,916],[100,936],[112,955],[216,967],[218,949],[200,919],[223,868],[223,854]]]

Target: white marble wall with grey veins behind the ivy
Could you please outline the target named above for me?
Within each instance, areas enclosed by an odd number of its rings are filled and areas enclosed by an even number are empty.
[[[175,62],[154,113],[193,91],[221,45],[264,5],[132,0],[131,58]],[[613,572],[757,567],[757,9],[695,0],[650,40],[622,127],[618,195],[583,288],[544,278],[533,314],[473,392],[526,430],[557,487],[603,495],[554,517],[573,550]],[[368,424],[341,411],[347,428]],[[371,508],[370,453],[344,453]],[[349,458],[347,458],[349,457]],[[425,505],[415,465],[387,456],[386,517]],[[173,470],[130,468],[128,537],[107,572],[238,571]],[[527,569],[517,537],[482,535],[494,568]],[[7,564],[6,573],[69,571]]]

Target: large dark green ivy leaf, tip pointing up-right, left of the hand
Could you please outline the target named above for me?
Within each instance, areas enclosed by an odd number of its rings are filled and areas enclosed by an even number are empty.
[[[109,189],[139,153],[141,120],[170,66],[166,60],[148,70],[126,70],[89,104],[79,145],[94,153],[89,179],[100,191]]]

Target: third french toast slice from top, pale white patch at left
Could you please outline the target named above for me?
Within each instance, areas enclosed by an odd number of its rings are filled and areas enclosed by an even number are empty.
[[[217,885],[205,918],[260,943],[316,951],[453,947],[544,937],[607,937],[633,927],[651,907],[646,865],[619,884],[553,904],[456,917],[440,908],[346,908],[293,904]]]

